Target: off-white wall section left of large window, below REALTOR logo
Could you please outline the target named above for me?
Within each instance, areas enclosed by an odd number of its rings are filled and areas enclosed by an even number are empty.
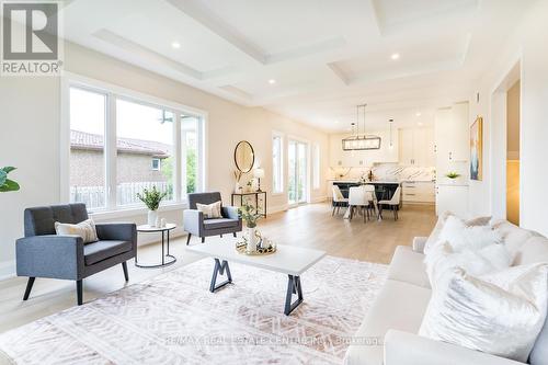
[[[0,77],[0,167],[21,191],[0,193],[0,277],[12,271],[23,209],[59,201],[59,82]]]

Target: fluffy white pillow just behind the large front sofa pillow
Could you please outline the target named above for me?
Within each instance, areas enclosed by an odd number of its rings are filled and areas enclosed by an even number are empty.
[[[513,258],[504,244],[491,243],[480,250],[465,249],[455,252],[448,242],[432,248],[424,258],[426,274],[432,287],[447,271],[460,267],[468,275],[479,276],[510,267]]]

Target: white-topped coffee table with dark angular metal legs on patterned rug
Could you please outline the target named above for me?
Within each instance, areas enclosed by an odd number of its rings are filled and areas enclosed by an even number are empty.
[[[212,293],[232,283],[229,261],[286,274],[288,277],[284,308],[286,316],[289,316],[302,303],[300,275],[326,255],[324,251],[283,244],[278,244],[276,252],[269,255],[246,255],[236,251],[233,242],[207,242],[187,247],[186,250],[215,260],[209,285]],[[225,273],[227,280],[217,284],[217,275],[225,275]],[[297,300],[292,301],[294,294],[297,295]]]

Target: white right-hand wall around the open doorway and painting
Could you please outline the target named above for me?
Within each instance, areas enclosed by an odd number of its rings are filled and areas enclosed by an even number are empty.
[[[505,47],[493,58],[490,72],[479,82],[476,91],[480,92],[480,102],[470,103],[470,115],[484,116],[484,179],[470,182],[470,208],[472,214],[502,214],[498,206],[503,190],[493,189],[493,182],[504,179],[505,166],[505,121],[498,110],[499,100],[492,99],[493,92],[521,61],[522,85],[522,129],[521,129],[521,192],[524,228],[548,235],[548,2],[538,1],[521,20],[515,34],[509,38]],[[475,93],[476,93],[475,91]],[[476,100],[476,98],[470,98]],[[472,122],[472,121],[470,121]],[[501,156],[502,155],[502,156]]]

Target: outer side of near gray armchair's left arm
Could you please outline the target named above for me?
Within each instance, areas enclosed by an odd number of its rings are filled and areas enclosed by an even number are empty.
[[[15,252],[19,276],[80,280],[83,275],[83,240],[79,236],[20,238]]]

